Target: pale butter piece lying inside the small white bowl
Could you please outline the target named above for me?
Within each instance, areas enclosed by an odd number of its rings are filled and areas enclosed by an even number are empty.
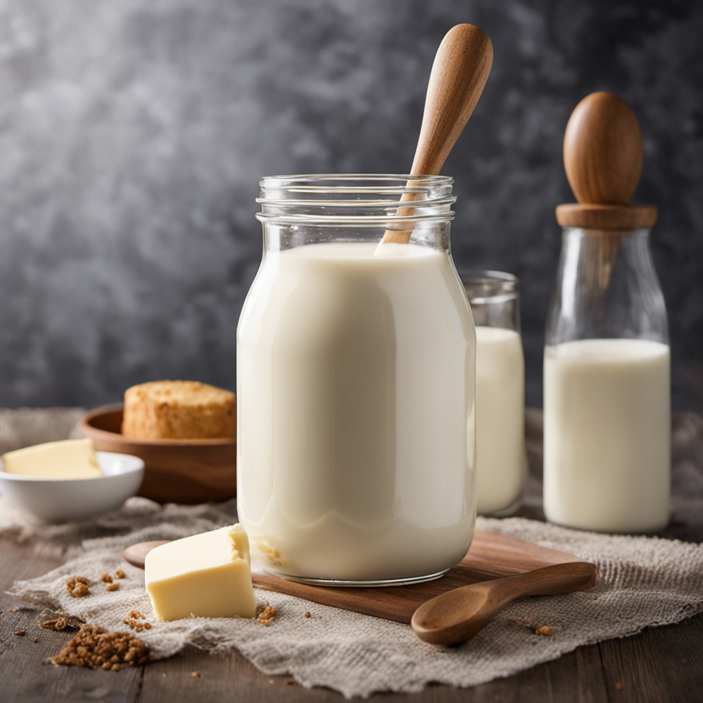
[[[41,479],[95,479],[103,475],[91,439],[63,439],[3,454],[5,471]]]

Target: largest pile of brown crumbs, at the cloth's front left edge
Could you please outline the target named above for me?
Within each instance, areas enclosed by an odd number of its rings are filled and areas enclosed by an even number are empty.
[[[48,661],[51,664],[119,671],[127,664],[144,664],[148,658],[149,647],[128,632],[108,632],[102,627],[84,625],[63,650]]]

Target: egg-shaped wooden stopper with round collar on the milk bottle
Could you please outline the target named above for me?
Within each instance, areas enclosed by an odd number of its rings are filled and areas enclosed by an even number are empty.
[[[611,236],[654,226],[654,205],[631,204],[642,164],[642,133],[630,106],[605,91],[583,98],[564,135],[564,167],[579,202],[557,206],[559,224]]]

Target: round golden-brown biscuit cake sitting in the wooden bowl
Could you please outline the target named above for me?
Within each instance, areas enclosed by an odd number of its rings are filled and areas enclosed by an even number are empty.
[[[124,393],[122,434],[132,439],[236,439],[233,393],[198,381],[150,381]]]

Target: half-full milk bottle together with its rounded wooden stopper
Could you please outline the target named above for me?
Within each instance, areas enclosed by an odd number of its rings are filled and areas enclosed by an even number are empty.
[[[579,205],[557,207],[544,510],[569,527],[654,531],[669,520],[670,361],[648,244],[657,211],[628,205],[642,166],[637,119],[616,96],[593,93],[574,110],[564,148]]]

